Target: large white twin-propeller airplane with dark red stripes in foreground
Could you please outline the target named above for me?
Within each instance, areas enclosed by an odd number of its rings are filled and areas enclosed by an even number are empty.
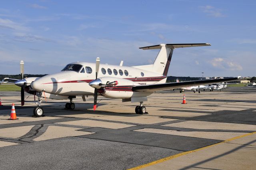
[[[146,113],[146,107],[143,102],[147,101],[147,96],[156,90],[233,81],[239,78],[166,83],[173,50],[195,46],[210,46],[210,44],[160,44],[142,47],[140,49],[143,50],[160,49],[154,64],[132,67],[122,66],[122,64],[116,66],[100,64],[100,58],[97,58],[96,64],[73,62],[59,73],[49,74],[42,78],[25,78],[15,82],[15,84],[23,87],[30,94],[34,94],[34,90],[36,90],[38,96],[36,104],[38,107],[34,109],[35,116],[42,116],[44,113],[40,106],[43,97],[69,98],[70,102],[66,103],[66,108],[74,109],[73,98],[82,96],[85,101],[85,96],[88,97],[89,95],[94,96],[94,110],[96,110],[97,96],[101,95],[106,98],[122,98],[122,102],[140,102],[140,105],[136,106],[135,112],[144,114]]]

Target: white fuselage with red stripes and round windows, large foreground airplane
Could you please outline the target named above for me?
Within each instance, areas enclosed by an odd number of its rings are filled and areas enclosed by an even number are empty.
[[[68,66],[73,68],[68,68]],[[96,77],[95,63],[73,62],[65,68],[56,74],[49,74],[37,79],[32,83],[32,88],[38,92],[44,90],[47,93],[62,96],[88,96],[94,94],[94,88],[89,86],[88,83]],[[111,93],[114,94],[110,94],[108,92],[109,88],[105,88],[104,95],[106,97],[130,98],[148,95],[132,92],[132,86],[165,83],[167,76],[134,67],[100,64],[98,78],[105,78],[109,82],[123,79],[121,82],[118,81],[119,88],[113,87],[116,89],[111,89]]]

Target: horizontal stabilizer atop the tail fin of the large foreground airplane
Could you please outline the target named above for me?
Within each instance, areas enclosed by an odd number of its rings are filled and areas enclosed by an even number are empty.
[[[198,47],[198,46],[210,46],[209,43],[199,43],[199,44],[165,44],[166,48],[184,48],[184,47]],[[161,44],[155,46],[147,46],[147,47],[140,47],[143,50],[154,50],[154,49],[161,49]]]

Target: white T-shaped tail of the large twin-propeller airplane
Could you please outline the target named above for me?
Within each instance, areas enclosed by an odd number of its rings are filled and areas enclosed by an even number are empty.
[[[175,48],[184,48],[184,47],[198,47],[198,46],[210,46],[209,43],[200,43],[200,44],[159,44],[155,46],[141,47],[143,50],[153,50],[160,49],[158,55],[153,64],[143,65],[143,66],[134,66],[134,68],[139,68],[142,70],[147,70],[162,74],[167,76],[170,62],[172,60],[172,53]]]

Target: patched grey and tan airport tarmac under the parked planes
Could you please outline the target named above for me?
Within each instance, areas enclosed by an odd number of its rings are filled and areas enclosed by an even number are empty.
[[[118,99],[99,97],[96,112],[92,97],[74,110],[47,99],[40,118],[34,96],[20,106],[20,92],[0,92],[0,169],[256,169],[255,92],[156,92],[144,115]],[[7,120],[12,103],[18,120]]]

